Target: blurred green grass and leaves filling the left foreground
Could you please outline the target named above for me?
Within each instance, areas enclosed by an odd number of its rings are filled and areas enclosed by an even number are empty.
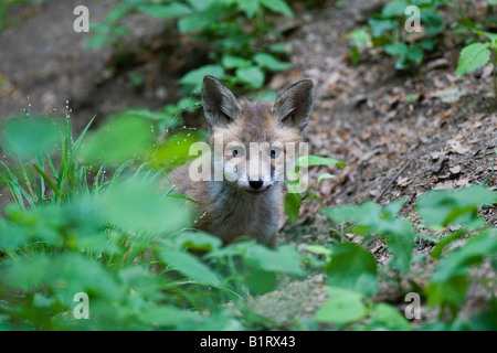
[[[158,143],[157,118],[136,110],[77,138],[68,115],[66,125],[29,113],[2,125],[12,203],[0,216],[1,330],[264,328],[248,295],[307,274],[295,246],[222,247],[192,229],[186,197],[160,180],[195,139],[175,131]],[[73,315],[77,293],[89,320]]]

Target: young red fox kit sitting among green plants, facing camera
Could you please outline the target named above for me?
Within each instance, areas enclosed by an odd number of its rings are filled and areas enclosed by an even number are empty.
[[[283,215],[286,146],[300,141],[313,101],[309,79],[294,84],[276,101],[244,101],[218,78],[204,77],[202,106],[214,156],[203,157],[209,158],[208,169],[215,170],[214,178],[192,178],[195,162],[169,174],[178,192],[198,202],[192,204],[197,228],[225,244],[241,235],[274,243]]]

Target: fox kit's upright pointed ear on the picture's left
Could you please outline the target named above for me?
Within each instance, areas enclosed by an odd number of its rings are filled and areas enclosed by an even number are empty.
[[[203,77],[202,106],[209,126],[228,125],[242,115],[233,93],[213,76]]]

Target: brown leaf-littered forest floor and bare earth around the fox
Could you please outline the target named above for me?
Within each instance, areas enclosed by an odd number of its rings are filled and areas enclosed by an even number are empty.
[[[95,115],[102,121],[123,109],[154,110],[178,100],[176,79],[205,57],[201,45],[180,35],[165,36],[170,28],[136,17],[130,20],[134,45],[87,51],[84,43],[89,34],[72,29],[76,4],[88,6],[92,22],[110,9],[107,2],[52,0],[19,7],[11,13],[8,28],[0,33],[0,117],[21,113],[29,103],[35,111],[55,108],[64,114],[67,99],[75,128],[81,129]],[[462,44],[448,34],[421,66],[408,73],[394,69],[395,58],[376,50],[364,53],[353,66],[345,36],[364,25],[380,6],[379,0],[350,0],[338,8],[335,1],[327,1],[320,9],[299,11],[285,34],[293,47],[292,67],[274,75],[267,88],[281,92],[290,81],[314,81],[316,100],[306,141],[313,154],[347,163],[343,169],[310,170],[311,189],[318,174],[336,175],[318,189],[317,195],[327,206],[366,201],[385,204],[405,197],[401,213],[415,222],[415,200],[430,190],[482,184],[488,179],[487,185],[497,188],[493,173],[497,99],[490,66],[484,67],[482,75],[456,77]],[[477,7],[475,11],[479,11]],[[133,84],[134,74],[144,77],[142,83]],[[197,120],[188,124],[201,126]],[[282,242],[302,249],[328,242],[330,224],[319,208],[315,201],[305,202],[297,224],[287,223],[281,229]],[[497,226],[496,207],[483,214]],[[430,248],[415,252],[427,254]],[[380,242],[371,250],[379,263],[389,260]],[[424,287],[435,261],[426,257],[412,266],[401,290],[385,282],[378,297],[402,307],[411,282]],[[490,267],[484,267],[475,276],[489,272]],[[324,278],[317,274],[285,284],[284,289],[255,298],[252,304],[285,328],[294,318],[309,318],[325,302],[324,288]],[[488,300],[486,296],[473,286],[464,310],[477,310]],[[426,312],[426,318],[434,314]]]

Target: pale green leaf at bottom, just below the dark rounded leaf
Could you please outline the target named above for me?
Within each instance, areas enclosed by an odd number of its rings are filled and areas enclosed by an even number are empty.
[[[331,299],[316,312],[314,320],[322,323],[345,324],[363,319],[368,312],[362,295],[343,288],[328,287]]]

